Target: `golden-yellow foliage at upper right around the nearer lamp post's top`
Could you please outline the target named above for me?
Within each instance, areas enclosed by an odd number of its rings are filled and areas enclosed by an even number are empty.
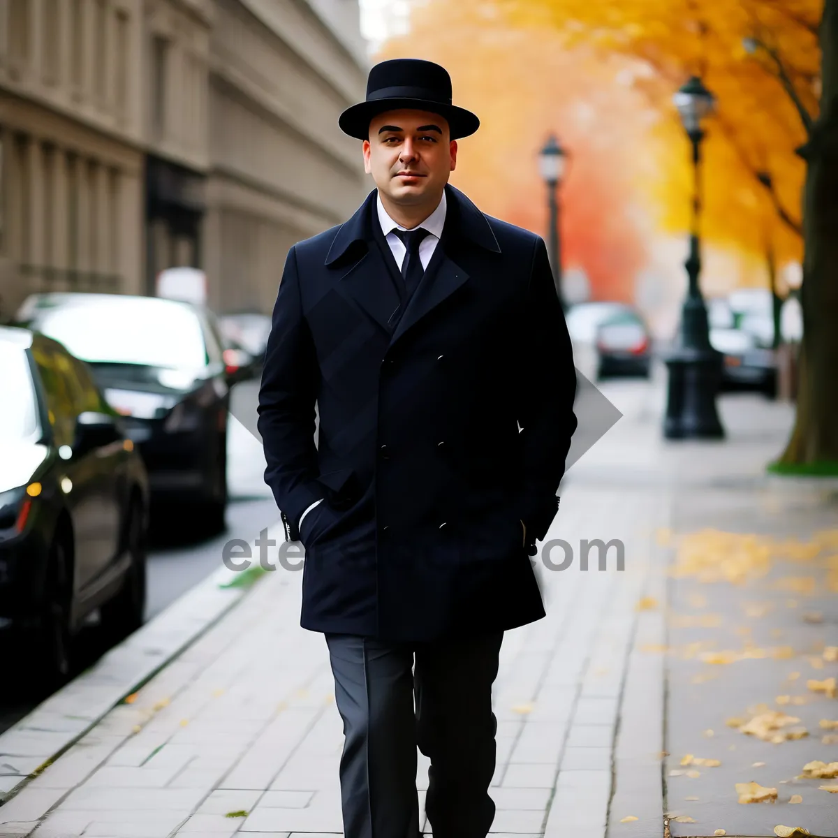
[[[472,0],[464,0],[472,2]],[[703,231],[708,241],[780,260],[799,260],[804,163],[795,149],[818,108],[816,30],[823,0],[489,0],[506,25],[551,29],[567,48],[642,60],[643,89],[667,118],[657,127],[660,176],[649,194],[667,230],[685,230],[691,163],[671,95],[701,75],[716,95],[704,143]],[[753,39],[747,44],[746,39]],[[747,49],[746,49],[747,46]],[[754,47],[756,46],[756,49]],[[770,173],[773,192],[757,173]],[[785,215],[785,218],[781,218]]]

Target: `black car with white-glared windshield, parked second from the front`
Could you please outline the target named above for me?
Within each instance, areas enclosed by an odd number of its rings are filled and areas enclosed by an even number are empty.
[[[189,504],[190,525],[223,530],[230,373],[215,316],[163,297],[68,292],[28,297],[18,321],[91,366],[142,454],[153,509]]]

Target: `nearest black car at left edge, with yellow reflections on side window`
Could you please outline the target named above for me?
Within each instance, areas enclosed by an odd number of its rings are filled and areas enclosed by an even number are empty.
[[[0,327],[0,618],[50,685],[98,609],[121,639],[142,625],[148,482],[91,370],[26,329]]]

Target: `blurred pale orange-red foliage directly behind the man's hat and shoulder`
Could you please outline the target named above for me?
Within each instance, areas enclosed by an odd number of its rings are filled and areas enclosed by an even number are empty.
[[[452,184],[489,215],[545,239],[538,152],[556,132],[572,155],[560,189],[562,264],[582,267],[593,298],[633,299],[649,236],[636,197],[654,176],[654,155],[640,153],[652,111],[617,81],[633,62],[557,49],[551,28],[510,28],[474,0],[416,8],[410,34],[391,39],[376,59],[396,57],[444,65],[454,101],[480,117],[478,132],[459,141]]]

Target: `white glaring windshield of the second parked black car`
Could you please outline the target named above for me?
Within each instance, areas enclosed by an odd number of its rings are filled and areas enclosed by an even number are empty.
[[[198,315],[156,297],[91,297],[36,310],[33,328],[91,363],[193,370],[206,364]]]

